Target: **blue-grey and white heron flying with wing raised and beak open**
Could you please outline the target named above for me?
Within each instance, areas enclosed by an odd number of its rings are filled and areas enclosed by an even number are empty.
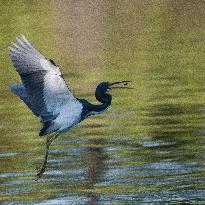
[[[115,88],[129,88],[126,85],[130,81],[101,82],[95,91],[100,104],[91,104],[73,95],[60,67],[38,51],[24,35],[17,37],[16,43],[12,42],[9,54],[21,78],[20,83],[11,85],[11,91],[41,119],[43,126],[39,136],[47,136],[44,160],[36,173],[38,179],[46,170],[52,141],[87,117],[106,111],[112,101],[108,92]]]

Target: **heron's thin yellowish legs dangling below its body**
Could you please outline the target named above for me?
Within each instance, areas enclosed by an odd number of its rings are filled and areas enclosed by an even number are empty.
[[[55,133],[54,135],[51,135],[51,136],[48,136],[47,137],[47,140],[46,140],[46,152],[45,152],[45,156],[44,156],[44,161],[43,161],[43,164],[42,166],[38,169],[37,171],[37,179],[39,179],[40,177],[43,176],[43,173],[45,172],[46,170],[46,165],[47,165],[47,160],[48,160],[48,151],[49,151],[49,147],[52,143],[52,141],[57,138],[58,136],[58,133]]]

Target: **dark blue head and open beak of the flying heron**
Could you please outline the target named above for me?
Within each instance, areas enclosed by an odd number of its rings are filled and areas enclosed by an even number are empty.
[[[96,98],[97,100],[99,100],[100,102],[102,101],[101,98],[103,95],[105,95],[106,93],[110,92],[113,89],[120,89],[120,88],[128,88],[127,85],[130,81],[119,81],[119,82],[102,82],[100,83],[97,88],[96,88]],[[116,86],[117,85],[117,86]],[[106,96],[109,96],[108,94]]]

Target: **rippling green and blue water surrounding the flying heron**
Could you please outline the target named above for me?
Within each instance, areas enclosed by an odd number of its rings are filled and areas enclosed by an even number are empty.
[[[1,204],[205,204],[203,1],[0,1]],[[55,60],[76,96],[108,112],[54,141],[9,91],[19,77],[7,47],[24,34]]]

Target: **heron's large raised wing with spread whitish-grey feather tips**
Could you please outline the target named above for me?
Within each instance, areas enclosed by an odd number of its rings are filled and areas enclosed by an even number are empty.
[[[16,71],[21,76],[30,100],[33,113],[44,122],[59,115],[61,107],[72,104],[77,99],[67,87],[60,68],[54,61],[45,58],[22,36],[18,44],[9,47]]]

